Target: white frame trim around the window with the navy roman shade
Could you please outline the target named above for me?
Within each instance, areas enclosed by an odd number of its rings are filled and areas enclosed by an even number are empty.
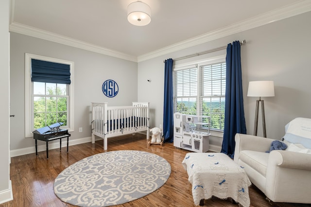
[[[61,63],[61,64],[66,64],[69,65],[70,67],[70,85],[69,85],[69,109],[68,109],[68,124],[67,128],[69,132],[72,132],[74,129],[74,80],[73,80],[73,72],[74,72],[74,63],[68,60],[62,60],[62,59],[57,59],[57,58],[52,58],[52,57],[46,57],[46,56],[41,56],[41,55],[36,55],[36,54],[30,54],[30,53],[25,53],[25,138],[28,137],[33,137],[33,103],[32,103],[32,95],[33,95],[33,86],[32,86],[32,81],[31,81],[31,60],[32,59],[37,59],[37,60],[43,60],[43,61],[48,61],[48,62],[53,62],[53,63]]]

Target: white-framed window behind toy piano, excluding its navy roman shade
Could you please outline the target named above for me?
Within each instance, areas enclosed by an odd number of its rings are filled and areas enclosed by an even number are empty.
[[[71,84],[32,82],[32,60],[69,65]],[[25,137],[55,122],[73,131],[73,62],[26,53]],[[53,82],[53,81],[49,81]]]

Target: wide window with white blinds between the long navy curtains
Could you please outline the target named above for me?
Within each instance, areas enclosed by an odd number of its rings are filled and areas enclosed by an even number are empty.
[[[224,131],[225,56],[191,64],[174,67],[174,112],[210,116],[210,130]]]

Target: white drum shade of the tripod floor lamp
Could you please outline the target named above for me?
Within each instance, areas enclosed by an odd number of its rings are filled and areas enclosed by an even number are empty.
[[[273,81],[250,81],[247,96],[271,97],[274,96]]]

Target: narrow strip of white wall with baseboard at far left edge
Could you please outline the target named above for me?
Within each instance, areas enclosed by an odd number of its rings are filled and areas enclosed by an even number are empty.
[[[9,0],[0,1],[0,204],[12,200],[10,182]]]

